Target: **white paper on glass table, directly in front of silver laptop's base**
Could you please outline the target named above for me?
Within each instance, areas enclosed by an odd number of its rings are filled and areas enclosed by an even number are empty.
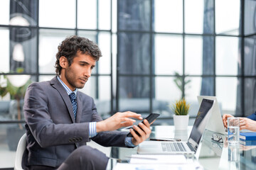
[[[183,154],[132,154],[130,164],[186,164]]]

